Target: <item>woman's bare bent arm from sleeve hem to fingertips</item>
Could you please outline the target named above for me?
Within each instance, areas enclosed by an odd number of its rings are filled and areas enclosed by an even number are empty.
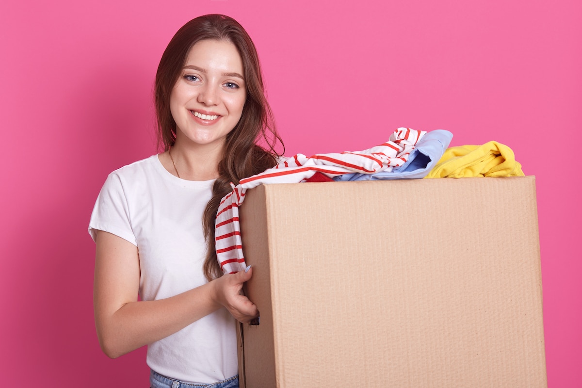
[[[170,298],[137,301],[137,247],[114,234],[96,232],[95,326],[101,348],[109,357],[161,340],[222,306],[241,322],[258,315],[253,302],[239,294],[252,269],[222,276]]]

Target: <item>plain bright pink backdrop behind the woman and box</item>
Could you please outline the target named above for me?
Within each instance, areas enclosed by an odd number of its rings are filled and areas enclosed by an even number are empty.
[[[111,360],[98,346],[87,223],[107,174],[155,153],[159,57],[204,13],[254,38],[288,155],[367,148],[399,126],[509,145],[537,177],[548,383],[582,386],[582,2],[161,3],[0,5],[2,386],[147,386],[144,349]]]

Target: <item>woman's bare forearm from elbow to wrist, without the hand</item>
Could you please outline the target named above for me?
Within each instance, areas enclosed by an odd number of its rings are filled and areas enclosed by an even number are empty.
[[[115,358],[161,340],[211,314],[222,305],[213,297],[214,284],[155,301],[132,301],[112,314],[100,313],[95,301],[95,323],[101,348]]]

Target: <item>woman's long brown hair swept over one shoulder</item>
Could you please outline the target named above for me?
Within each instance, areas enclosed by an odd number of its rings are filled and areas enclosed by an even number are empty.
[[[222,275],[215,250],[214,229],[218,206],[222,197],[230,192],[230,182],[238,184],[244,177],[275,166],[277,156],[282,155],[275,151],[276,144],[281,144],[282,152],[285,148],[265,98],[257,49],[243,27],[225,15],[204,15],[190,20],[178,30],[166,47],[159,61],[154,86],[158,147],[163,144],[166,151],[176,141],[176,122],[170,111],[169,96],[190,48],[201,40],[228,41],[235,45],[243,62],[247,92],[242,116],[226,136],[224,154],[218,163],[219,177],[212,187],[212,198],[202,220],[208,246],[204,275],[210,281]]]

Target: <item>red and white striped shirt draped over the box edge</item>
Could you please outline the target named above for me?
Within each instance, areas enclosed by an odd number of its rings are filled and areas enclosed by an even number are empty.
[[[408,160],[416,143],[426,134],[409,128],[399,128],[386,143],[364,151],[339,154],[316,154],[307,157],[297,154],[283,158],[274,168],[240,180],[232,192],[222,198],[216,219],[216,250],[224,273],[235,273],[246,268],[240,238],[239,206],[247,189],[268,183],[299,183],[320,172],[328,177],[347,173],[390,172]]]

